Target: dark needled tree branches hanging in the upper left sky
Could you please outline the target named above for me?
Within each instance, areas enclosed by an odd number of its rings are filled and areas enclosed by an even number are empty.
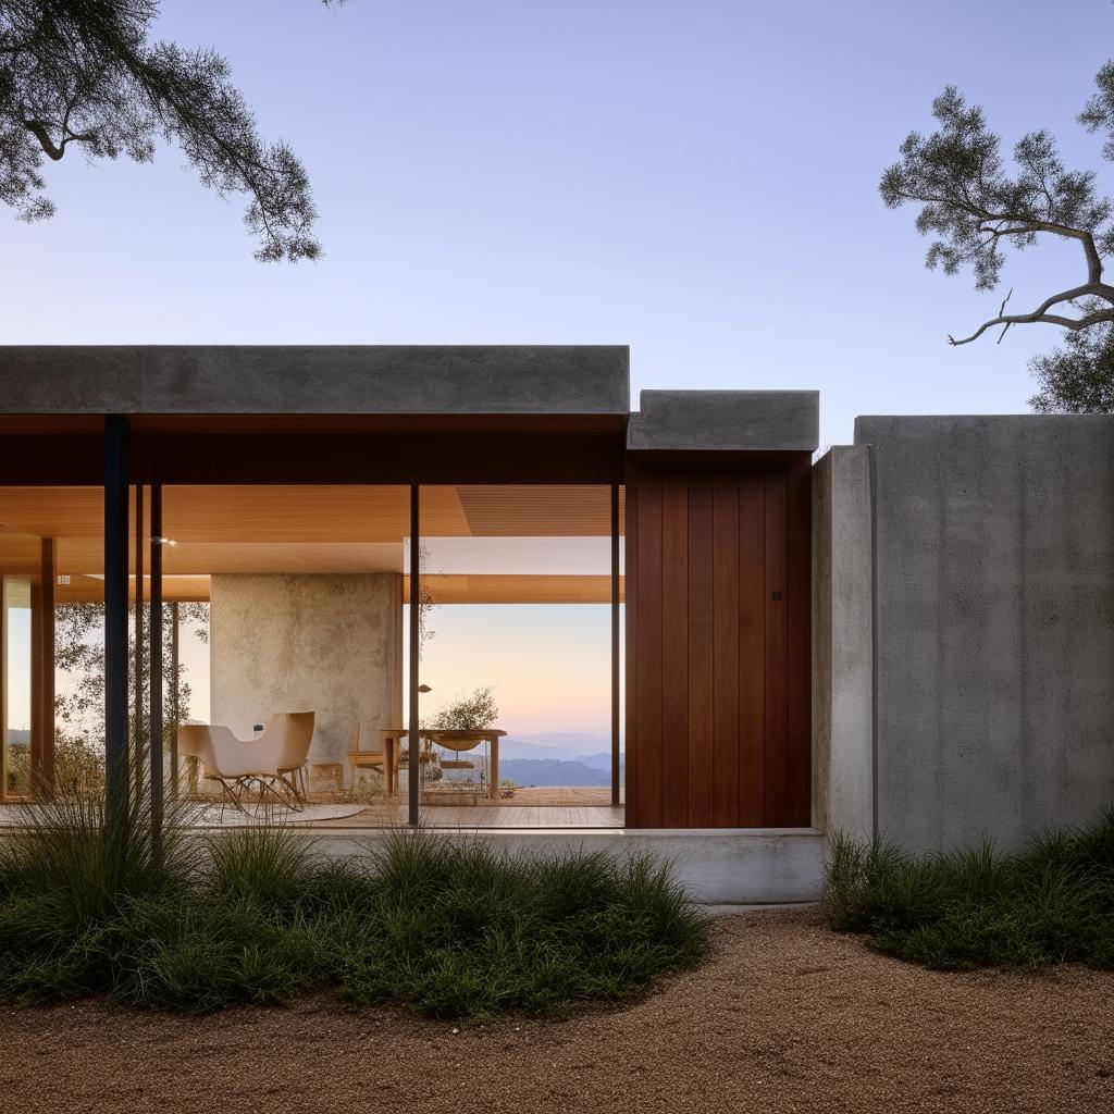
[[[256,258],[315,258],[302,164],[260,137],[221,55],[150,41],[158,13],[158,0],[0,0],[0,201],[49,217],[48,160],[79,149],[146,163],[162,138],[205,186],[246,195]]]

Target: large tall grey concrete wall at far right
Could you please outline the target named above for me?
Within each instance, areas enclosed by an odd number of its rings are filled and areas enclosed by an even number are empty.
[[[1114,417],[860,418],[877,808],[911,849],[1114,801]]]

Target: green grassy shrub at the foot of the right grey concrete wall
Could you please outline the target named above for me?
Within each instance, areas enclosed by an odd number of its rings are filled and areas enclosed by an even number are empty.
[[[837,836],[821,912],[837,931],[941,970],[1114,966],[1114,809],[1020,853],[985,843],[915,858]]]

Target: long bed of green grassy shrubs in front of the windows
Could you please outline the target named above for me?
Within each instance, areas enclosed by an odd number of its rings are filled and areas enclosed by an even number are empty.
[[[419,831],[338,862],[289,829],[180,831],[156,844],[135,808],[106,832],[90,800],[40,814],[0,858],[0,999],[207,1012],[329,990],[424,1017],[554,1017],[638,995],[709,946],[647,858],[515,859]]]

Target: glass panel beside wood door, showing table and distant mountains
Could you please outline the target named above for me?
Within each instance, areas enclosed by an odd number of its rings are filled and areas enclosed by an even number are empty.
[[[622,823],[615,509],[602,485],[421,488],[426,822],[487,822],[478,804],[540,809],[547,824]]]

